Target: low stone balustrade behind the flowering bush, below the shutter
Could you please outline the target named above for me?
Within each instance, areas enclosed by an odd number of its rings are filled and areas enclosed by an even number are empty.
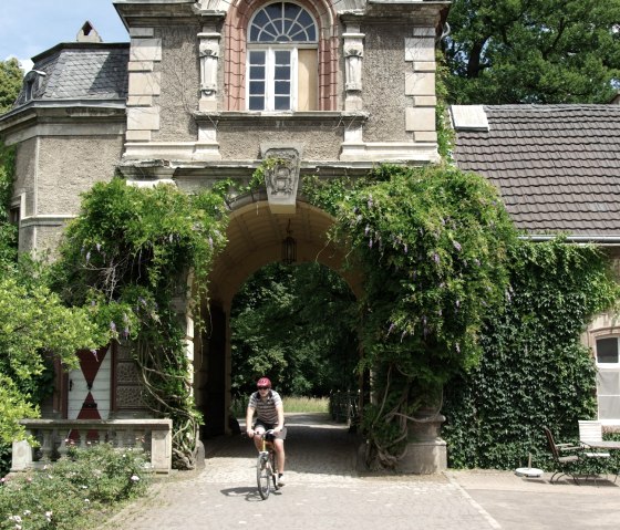
[[[22,419],[27,434],[39,441],[13,441],[11,471],[42,468],[66,456],[70,446],[110,443],[117,448],[140,447],[151,455],[154,472],[172,469],[172,419]]]

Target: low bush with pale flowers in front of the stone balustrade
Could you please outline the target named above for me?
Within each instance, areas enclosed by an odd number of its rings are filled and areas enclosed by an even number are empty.
[[[0,529],[74,529],[99,524],[100,513],[144,495],[149,481],[142,451],[107,444],[74,449],[43,471],[2,479]]]

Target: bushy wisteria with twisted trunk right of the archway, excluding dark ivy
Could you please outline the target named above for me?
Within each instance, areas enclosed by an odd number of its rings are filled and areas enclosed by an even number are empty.
[[[353,187],[307,181],[332,204],[331,237],[365,277],[363,358],[378,403],[363,428],[382,466],[406,443],[406,418],[479,360],[485,318],[504,304],[516,232],[497,191],[450,167],[381,166]]]

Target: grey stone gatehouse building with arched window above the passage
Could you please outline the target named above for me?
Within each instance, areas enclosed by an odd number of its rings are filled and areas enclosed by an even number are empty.
[[[234,294],[280,260],[335,268],[331,218],[298,193],[300,176],[361,175],[378,163],[438,160],[435,48],[448,2],[426,0],[126,0],[113,2],[131,42],[76,42],[33,58],[0,135],[17,146],[11,217],[22,251],[54,249],[80,194],[120,173],[136,186],[180,189],[249,179],[277,155],[293,169],[268,194],[239,197],[229,245],[210,279],[207,341],[186,319],[196,402],[206,434],[227,430],[228,318]],[[354,276],[347,281],[359,293]],[[113,346],[59,383],[48,415],[144,414],[133,363]],[[84,360],[84,363],[86,361]],[[445,457],[445,453],[444,453]]]

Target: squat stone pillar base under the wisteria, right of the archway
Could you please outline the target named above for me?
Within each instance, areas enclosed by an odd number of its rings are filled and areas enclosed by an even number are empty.
[[[396,470],[414,475],[432,475],[447,469],[446,443],[440,437],[445,416],[420,414],[409,425],[406,454]]]

